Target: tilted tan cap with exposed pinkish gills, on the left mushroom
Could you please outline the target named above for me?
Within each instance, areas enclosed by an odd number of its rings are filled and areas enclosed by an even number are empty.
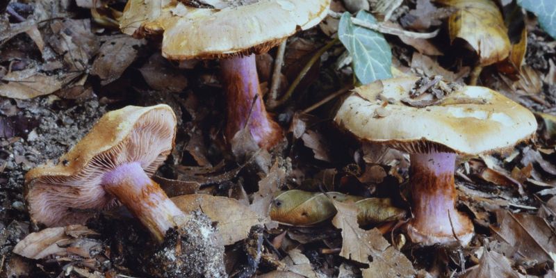
[[[149,177],[174,147],[177,120],[165,104],[126,106],[103,115],[58,165],[41,165],[25,175],[33,222],[84,224],[95,211],[117,205],[101,185],[106,172],[138,162]]]

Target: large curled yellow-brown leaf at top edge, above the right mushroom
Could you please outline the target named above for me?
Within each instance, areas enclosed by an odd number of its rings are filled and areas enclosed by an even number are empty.
[[[504,60],[511,47],[507,28],[500,9],[492,0],[436,0],[457,8],[450,15],[450,40],[466,40],[479,56],[480,65],[491,65]]]

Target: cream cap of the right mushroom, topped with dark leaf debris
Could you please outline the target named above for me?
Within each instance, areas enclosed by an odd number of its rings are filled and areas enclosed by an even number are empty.
[[[363,140],[409,153],[480,154],[512,147],[537,130],[527,108],[480,86],[464,86],[423,108],[409,106],[402,99],[417,80],[400,77],[356,88],[334,120]]]

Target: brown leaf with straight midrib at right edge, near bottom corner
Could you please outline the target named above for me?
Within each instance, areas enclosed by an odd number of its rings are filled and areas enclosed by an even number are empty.
[[[500,210],[496,211],[496,220],[498,224],[491,226],[493,237],[516,247],[515,255],[543,263],[551,260],[550,252],[556,253],[556,235],[543,218]]]

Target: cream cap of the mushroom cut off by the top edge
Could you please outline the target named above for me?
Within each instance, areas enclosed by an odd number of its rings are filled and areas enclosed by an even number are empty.
[[[152,2],[129,0],[120,28],[129,35],[163,33],[162,53],[170,60],[263,53],[318,24],[330,5],[330,0],[231,0],[218,9]]]

